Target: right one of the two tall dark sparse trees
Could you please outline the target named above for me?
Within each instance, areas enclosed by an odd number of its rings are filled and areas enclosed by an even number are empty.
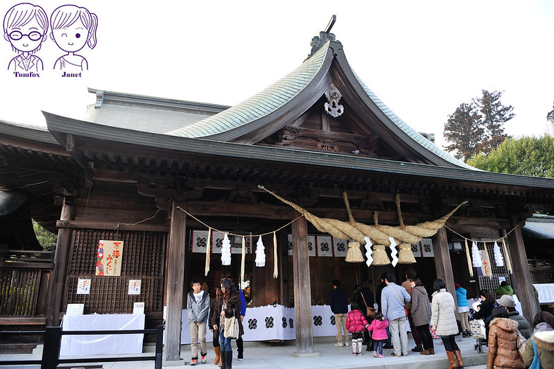
[[[489,153],[508,137],[504,133],[503,123],[515,117],[515,114],[512,112],[514,110],[512,105],[502,105],[500,101],[502,92],[488,92],[486,89],[481,92],[483,96],[474,99],[474,103],[483,117],[482,125],[485,128],[483,141],[479,148],[483,153]]]

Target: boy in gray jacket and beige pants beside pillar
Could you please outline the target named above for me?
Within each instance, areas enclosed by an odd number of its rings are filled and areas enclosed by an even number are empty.
[[[187,311],[191,332],[191,363],[198,364],[198,339],[200,339],[200,356],[202,363],[207,361],[206,322],[209,311],[209,293],[202,291],[200,280],[191,282],[192,291],[187,295]]]

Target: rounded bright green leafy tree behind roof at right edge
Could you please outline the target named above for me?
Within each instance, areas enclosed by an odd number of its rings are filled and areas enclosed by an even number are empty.
[[[471,157],[467,164],[485,171],[554,178],[554,137],[508,138],[490,153]]]

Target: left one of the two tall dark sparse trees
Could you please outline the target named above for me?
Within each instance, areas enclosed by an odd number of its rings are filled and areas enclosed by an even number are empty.
[[[446,149],[455,151],[454,156],[457,159],[467,160],[478,153],[482,137],[481,115],[472,103],[460,104],[444,124],[444,138],[452,142]]]

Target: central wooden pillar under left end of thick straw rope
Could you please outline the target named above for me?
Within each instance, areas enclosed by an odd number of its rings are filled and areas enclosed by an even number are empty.
[[[300,215],[296,213],[295,216]],[[293,276],[296,352],[295,356],[311,356],[313,336],[311,326],[310,260],[308,256],[308,225],[306,218],[293,223]]]

